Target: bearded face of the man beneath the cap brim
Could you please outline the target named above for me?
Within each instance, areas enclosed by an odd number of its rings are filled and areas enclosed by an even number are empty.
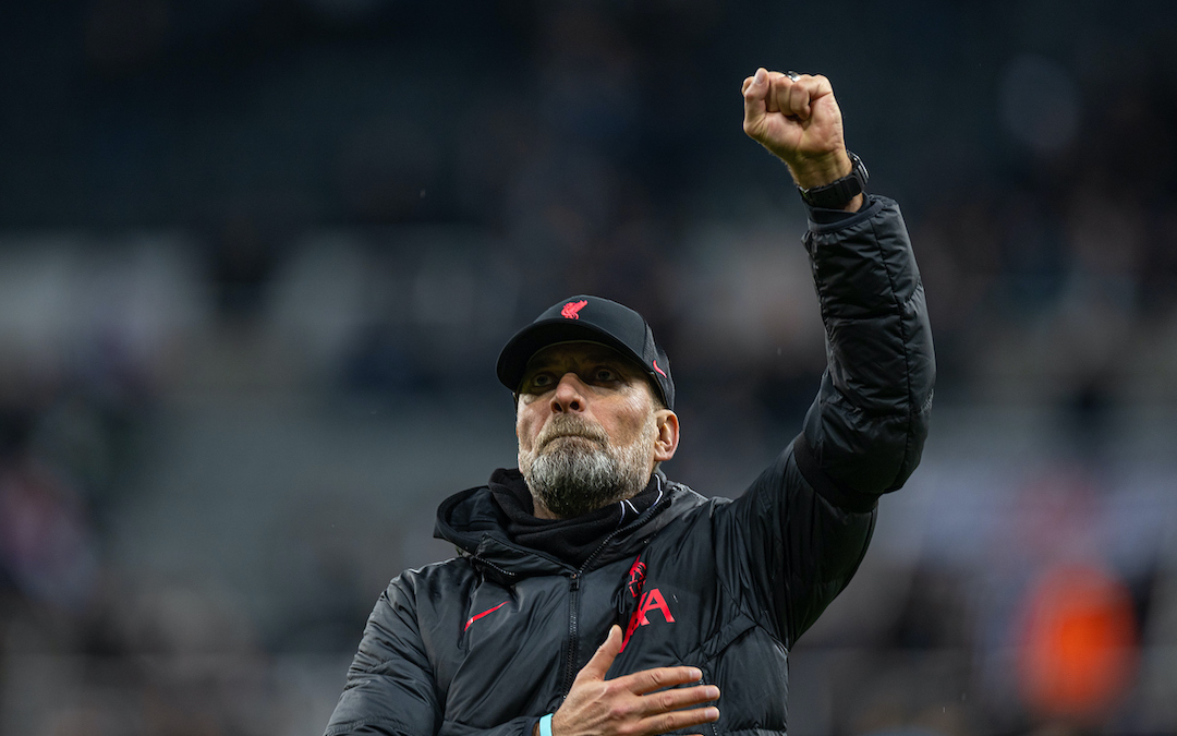
[[[611,347],[565,343],[528,362],[516,407],[519,470],[536,516],[568,518],[630,498],[678,445],[641,371]]]

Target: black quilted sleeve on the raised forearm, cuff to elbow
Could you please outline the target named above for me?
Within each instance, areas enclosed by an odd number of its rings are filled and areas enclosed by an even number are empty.
[[[936,359],[924,290],[893,201],[805,237],[829,366],[805,420],[813,459],[855,492],[896,490],[919,463]]]

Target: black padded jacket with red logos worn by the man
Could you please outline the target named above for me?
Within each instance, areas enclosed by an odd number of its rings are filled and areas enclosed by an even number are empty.
[[[918,464],[935,380],[898,206],[811,223],[805,246],[829,370],[752,486],[731,502],[669,484],[579,569],[512,543],[487,488],[453,496],[438,535],[463,555],[388,585],[328,736],[530,736],[613,623],[627,638],[609,677],[693,664],[719,687],[719,721],[692,730],[785,731],[789,649],[862,561],[878,495]]]

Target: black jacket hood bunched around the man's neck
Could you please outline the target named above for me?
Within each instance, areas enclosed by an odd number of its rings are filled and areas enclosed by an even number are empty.
[[[496,470],[491,483],[523,482],[518,469]],[[609,564],[641,548],[673,518],[706,503],[691,489],[667,480],[667,497],[656,503],[636,520],[603,537],[604,546],[593,553],[585,570]],[[458,551],[484,571],[492,571],[504,582],[533,575],[567,573],[572,564],[546,552],[517,544],[506,531],[507,519],[493,499],[490,485],[454,493],[438,506],[433,536],[452,542]]]

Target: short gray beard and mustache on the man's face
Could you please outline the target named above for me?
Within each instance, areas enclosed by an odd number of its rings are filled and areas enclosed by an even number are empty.
[[[653,415],[629,445],[611,445],[603,431],[571,419],[545,429],[545,433],[568,431],[579,436],[545,442],[541,435],[537,449],[519,450],[519,472],[527,488],[556,516],[583,516],[632,498],[650,482]]]

